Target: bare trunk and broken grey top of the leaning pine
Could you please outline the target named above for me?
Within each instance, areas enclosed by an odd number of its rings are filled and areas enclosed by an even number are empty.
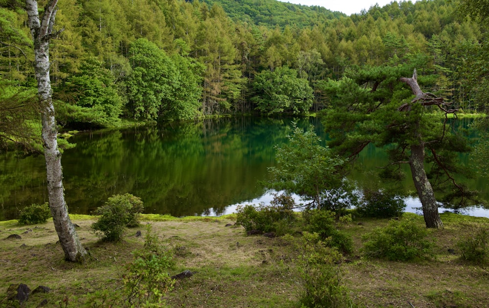
[[[422,98],[424,93],[422,92],[420,86],[418,85],[418,75],[416,69],[414,70],[413,77],[411,78],[400,78],[400,81],[409,85],[412,89],[416,98]],[[410,110],[408,106],[406,111]],[[424,142],[422,141],[422,136],[419,133],[419,122],[418,127],[412,128],[416,131],[417,144],[411,145],[411,157],[409,158],[409,166],[411,168],[411,175],[413,176],[414,186],[418,192],[422,208],[424,222],[427,228],[443,228],[442,220],[440,219],[440,214],[438,213],[438,204],[436,203],[435,193],[433,192],[433,187],[431,186],[428,177],[426,176],[426,171],[424,170]]]

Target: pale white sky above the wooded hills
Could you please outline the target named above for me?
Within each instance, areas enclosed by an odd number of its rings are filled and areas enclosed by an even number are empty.
[[[368,9],[378,3],[378,6],[382,7],[391,3],[393,0],[281,0],[282,2],[290,2],[302,5],[318,5],[324,6],[331,11],[343,12],[350,16],[355,13],[360,13],[361,10]],[[400,2],[400,0],[398,0]],[[416,0],[411,0],[416,2]]]

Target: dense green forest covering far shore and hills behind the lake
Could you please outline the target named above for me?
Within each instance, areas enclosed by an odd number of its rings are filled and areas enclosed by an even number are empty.
[[[332,103],[329,80],[406,64],[424,90],[480,111],[486,27],[459,5],[393,1],[348,17],[274,0],[60,0],[50,46],[57,120],[85,129],[317,111]],[[1,143],[31,140],[38,126],[26,19],[23,1],[0,0]]]

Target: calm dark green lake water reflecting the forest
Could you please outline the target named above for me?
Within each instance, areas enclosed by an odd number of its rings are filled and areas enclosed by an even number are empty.
[[[90,214],[107,198],[124,193],[140,197],[146,213],[174,216],[222,215],[237,204],[267,202],[270,194],[259,181],[267,179],[267,167],[275,164],[274,146],[286,142],[292,120],[231,117],[77,134],[69,139],[76,147],[62,158],[69,212]],[[326,137],[319,119],[296,121],[300,127],[313,124]],[[366,149],[352,179],[371,181],[386,159],[382,150]],[[467,156],[463,159],[469,163]],[[470,182],[488,192],[487,178]],[[414,192],[409,174],[402,190]],[[15,219],[24,206],[44,201],[44,157],[0,155],[0,220]],[[421,206],[417,198],[406,201],[408,211]],[[487,210],[469,214],[489,217]]]

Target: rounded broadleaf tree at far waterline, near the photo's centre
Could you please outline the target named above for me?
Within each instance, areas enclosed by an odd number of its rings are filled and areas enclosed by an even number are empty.
[[[264,70],[253,83],[257,110],[277,112],[307,112],[312,107],[312,88],[307,79],[298,78],[295,69],[281,66],[275,71]]]

